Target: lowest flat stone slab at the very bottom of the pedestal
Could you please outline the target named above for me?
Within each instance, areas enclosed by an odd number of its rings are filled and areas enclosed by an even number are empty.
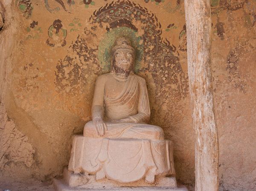
[[[56,191],[188,191],[185,186],[177,187],[111,187],[99,185],[93,186],[91,188],[82,186],[70,187],[64,180],[54,180],[54,188]]]

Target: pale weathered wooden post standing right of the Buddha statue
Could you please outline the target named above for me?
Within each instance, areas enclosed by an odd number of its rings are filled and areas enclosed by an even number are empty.
[[[185,0],[191,113],[195,130],[195,191],[218,191],[218,133],[211,70],[210,0]]]

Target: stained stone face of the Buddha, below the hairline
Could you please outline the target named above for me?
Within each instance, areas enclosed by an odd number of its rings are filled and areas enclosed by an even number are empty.
[[[129,49],[118,49],[114,54],[114,69],[119,75],[128,76],[134,67],[134,53]]]

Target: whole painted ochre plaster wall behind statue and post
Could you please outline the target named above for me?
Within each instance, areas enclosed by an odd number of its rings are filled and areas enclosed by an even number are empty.
[[[212,70],[220,190],[255,190],[255,0],[212,0]],[[131,38],[151,124],[174,142],[177,179],[195,182],[183,0],[3,1],[0,179],[47,180],[90,121],[95,79],[115,38]],[[120,19],[122,18],[122,19]]]

